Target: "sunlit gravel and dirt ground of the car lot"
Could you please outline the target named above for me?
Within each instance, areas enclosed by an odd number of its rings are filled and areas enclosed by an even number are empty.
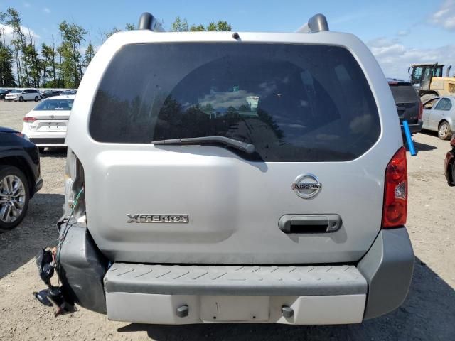
[[[0,102],[0,126],[20,130],[34,105]],[[0,234],[0,340],[455,340],[455,188],[442,173],[449,143],[434,134],[417,134],[414,141],[419,153],[408,157],[407,227],[416,256],[410,294],[394,313],[341,326],[137,325],[110,322],[83,308],[53,318],[32,296],[44,287],[33,257],[58,237],[65,151],[45,152],[43,189],[21,225]]]

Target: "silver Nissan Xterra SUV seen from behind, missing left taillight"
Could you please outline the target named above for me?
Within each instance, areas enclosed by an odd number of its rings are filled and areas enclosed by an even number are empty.
[[[296,33],[139,30],[102,45],[68,126],[65,291],[135,323],[360,323],[414,255],[395,102],[370,50]]]

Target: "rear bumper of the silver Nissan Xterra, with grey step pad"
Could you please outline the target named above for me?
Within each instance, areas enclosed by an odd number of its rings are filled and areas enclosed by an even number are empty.
[[[134,323],[360,323],[400,306],[414,266],[402,227],[382,230],[357,266],[113,264],[103,272],[85,232],[73,227],[63,243],[63,283],[82,306]]]

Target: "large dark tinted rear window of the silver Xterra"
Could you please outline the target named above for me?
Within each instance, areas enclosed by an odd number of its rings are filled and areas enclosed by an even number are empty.
[[[93,139],[149,144],[227,136],[244,158],[348,161],[380,136],[378,109],[348,50],[326,45],[127,45],[100,83]]]

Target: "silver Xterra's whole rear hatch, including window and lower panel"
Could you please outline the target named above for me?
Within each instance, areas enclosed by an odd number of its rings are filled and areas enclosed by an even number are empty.
[[[398,148],[380,139],[358,62],[328,45],[127,45],[88,129],[88,228],[109,259],[144,263],[357,261],[380,230]],[[201,136],[255,152],[163,142]]]

